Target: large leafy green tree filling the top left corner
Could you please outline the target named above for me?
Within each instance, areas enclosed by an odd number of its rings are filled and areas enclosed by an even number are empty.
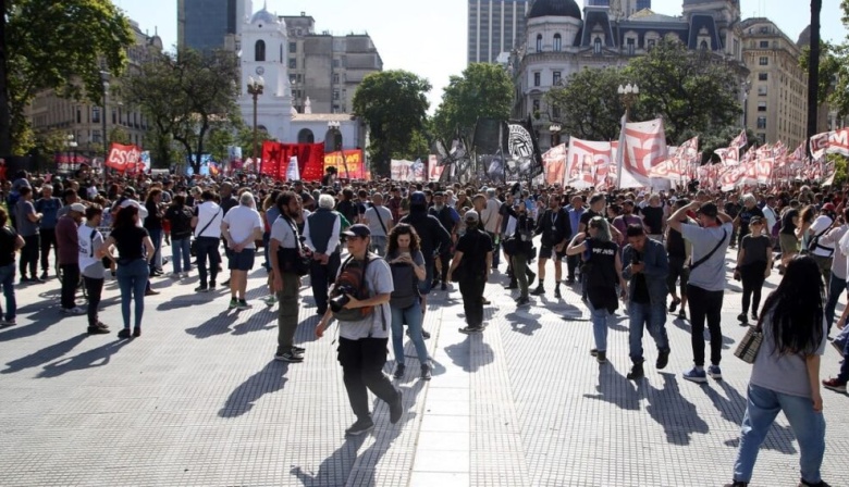
[[[110,0],[0,0],[0,154],[34,140],[24,110],[44,89],[102,98],[100,71],[121,74],[134,41]],[[101,65],[102,62],[102,65]]]

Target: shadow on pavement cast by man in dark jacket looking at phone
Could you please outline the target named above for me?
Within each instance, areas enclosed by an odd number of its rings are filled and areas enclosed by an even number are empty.
[[[699,416],[696,405],[681,396],[678,378],[675,374],[661,372],[663,388],[655,389],[643,378],[638,383],[640,391],[649,401],[645,411],[652,420],[663,426],[666,441],[687,446],[693,434],[706,435],[707,423]],[[694,387],[699,387],[694,385]]]

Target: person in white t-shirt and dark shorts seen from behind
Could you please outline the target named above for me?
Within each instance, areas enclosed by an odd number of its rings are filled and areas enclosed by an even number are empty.
[[[231,258],[230,269],[230,308],[247,310],[250,305],[245,300],[247,291],[247,273],[254,269],[254,258],[257,251],[256,240],[262,238],[262,217],[254,208],[254,195],[245,191],[238,198],[238,207],[226,212],[221,221],[221,236],[227,242]]]

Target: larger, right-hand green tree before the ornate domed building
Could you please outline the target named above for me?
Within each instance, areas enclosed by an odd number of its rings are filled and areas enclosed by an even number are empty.
[[[640,87],[639,113],[663,116],[672,143],[685,141],[687,133],[715,134],[739,123],[738,75],[710,52],[663,40],[624,72]]]

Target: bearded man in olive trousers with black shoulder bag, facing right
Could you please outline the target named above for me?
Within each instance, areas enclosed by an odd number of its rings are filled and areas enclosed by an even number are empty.
[[[295,330],[298,327],[298,290],[300,276],[295,272],[294,262],[302,257],[300,235],[294,217],[300,212],[297,196],[283,191],[274,202],[280,216],[271,224],[269,237],[269,260],[271,261],[272,290],[276,294],[278,308],[278,350],[274,360],[283,362],[303,362],[304,349],[295,347]]]

